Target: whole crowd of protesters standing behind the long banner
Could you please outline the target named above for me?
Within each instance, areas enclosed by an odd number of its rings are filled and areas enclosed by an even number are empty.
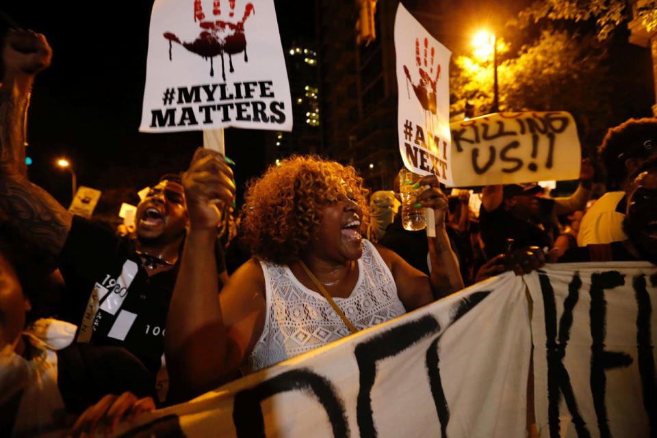
[[[436,177],[417,176],[426,190],[413,202],[433,210],[435,229],[407,231],[398,184],[370,194],[351,166],[294,156],[249,183],[238,214],[231,163],[198,149],[181,175],[153,181],[133,228],[108,230],[27,179],[29,92],[50,60],[44,36],[9,32],[0,88],[3,436],[110,432],[506,270],[657,261],[656,119],[610,129],[599,153],[615,191],[593,207],[588,159],[567,198],[534,183],[446,196]],[[292,336],[299,332],[308,336]]]

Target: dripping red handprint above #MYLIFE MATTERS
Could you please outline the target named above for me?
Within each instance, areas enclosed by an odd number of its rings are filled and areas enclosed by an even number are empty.
[[[212,15],[218,17],[221,15],[221,0],[214,0]],[[230,14],[233,17],[235,14],[235,0],[229,0]],[[171,43],[177,42],[181,46],[188,49],[192,53],[196,53],[204,58],[210,58],[210,76],[214,76],[214,66],[212,59],[216,55],[221,55],[221,75],[224,81],[226,80],[226,72],[224,70],[224,53],[228,54],[228,61],[230,72],[233,73],[233,55],[244,51],[244,62],[248,62],[246,55],[246,37],[244,36],[244,21],[254,12],[253,4],[247,3],[244,7],[244,16],[242,21],[233,23],[230,21],[222,20],[205,20],[203,13],[203,5],[201,0],[194,0],[194,21],[199,22],[201,34],[198,35],[196,40],[192,42],[181,42],[181,40],[171,32],[165,32],[164,38],[169,40],[169,60],[171,60]],[[254,12],[255,13],[255,12]]]

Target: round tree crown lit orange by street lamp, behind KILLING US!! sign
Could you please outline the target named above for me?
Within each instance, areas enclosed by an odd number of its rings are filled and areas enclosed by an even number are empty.
[[[594,36],[543,30],[517,57],[498,65],[500,111],[567,111],[580,138],[609,126],[611,103],[606,50]],[[493,65],[489,58],[456,57],[450,68],[452,114],[471,101],[477,114],[493,106]]]

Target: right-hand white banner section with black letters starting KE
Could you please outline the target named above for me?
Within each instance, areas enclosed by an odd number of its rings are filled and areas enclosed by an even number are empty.
[[[657,269],[563,263],[527,285],[539,436],[657,436]]]

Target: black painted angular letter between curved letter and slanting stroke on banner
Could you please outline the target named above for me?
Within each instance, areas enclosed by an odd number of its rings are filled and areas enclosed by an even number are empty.
[[[398,355],[421,339],[439,330],[438,321],[431,315],[425,315],[419,320],[397,326],[356,346],[354,354],[360,373],[356,416],[362,438],[377,436],[374,420],[372,419],[371,398],[372,387],[374,387],[376,378],[376,362]]]

